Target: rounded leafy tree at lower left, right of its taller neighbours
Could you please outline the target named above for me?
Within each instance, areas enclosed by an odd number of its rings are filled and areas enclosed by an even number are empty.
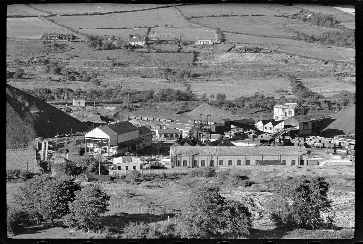
[[[98,185],[88,184],[76,192],[75,200],[69,204],[70,214],[65,217],[65,224],[82,230],[96,229],[99,225],[99,215],[104,214],[110,197]]]

